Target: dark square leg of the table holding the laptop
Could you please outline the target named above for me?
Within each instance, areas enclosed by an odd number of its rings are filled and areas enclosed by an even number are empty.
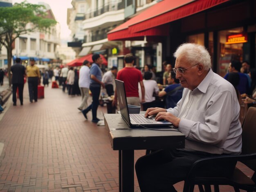
[[[119,150],[119,192],[134,192],[134,150]]]

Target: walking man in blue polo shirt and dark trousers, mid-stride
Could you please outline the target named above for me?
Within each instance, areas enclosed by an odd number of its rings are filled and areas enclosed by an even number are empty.
[[[90,68],[90,91],[92,92],[92,104],[88,106],[82,113],[87,119],[87,113],[92,109],[92,122],[97,123],[100,119],[97,118],[97,108],[99,106],[99,94],[102,88],[105,88],[103,82],[101,82],[101,68],[102,59],[99,54],[95,53],[92,55],[93,64]]]

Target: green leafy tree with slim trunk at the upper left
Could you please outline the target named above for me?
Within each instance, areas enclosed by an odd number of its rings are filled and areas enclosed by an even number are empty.
[[[7,49],[9,86],[11,86],[11,60],[13,43],[22,34],[41,31],[49,33],[56,20],[46,18],[45,6],[27,1],[13,7],[0,7],[0,43]]]

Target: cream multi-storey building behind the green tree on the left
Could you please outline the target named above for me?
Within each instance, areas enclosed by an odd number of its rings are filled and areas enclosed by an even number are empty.
[[[54,19],[54,14],[48,4],[40,3],[45,6],[47,18]],[[32,28],[32,24],[28,23],[27,28]],[[13,44],[13,61],[16,57],[22,59],[22,64],[29,64],[29,58],[33,57],[36,64],[61,64],[56,54],[56,47],[60,44],[60,25],[57,23],[52,26],[49,33],[33,32],[20,35]],[[0,68],[7,68],[7,51],[2,46],[0,52]]]

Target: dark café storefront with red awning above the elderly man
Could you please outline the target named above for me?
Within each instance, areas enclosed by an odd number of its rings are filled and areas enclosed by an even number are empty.
[[[158,42],[162,44],[162,60],[172,65],[177,46],[198,43],[209,49],[213,71],[224,76],[231,60],[246,60],[255,67],[255,26],[255,0],[163,0],[117,26],[108,39],[144,38],[144,51]],[[155,54],[161,55],[160,51]]]

